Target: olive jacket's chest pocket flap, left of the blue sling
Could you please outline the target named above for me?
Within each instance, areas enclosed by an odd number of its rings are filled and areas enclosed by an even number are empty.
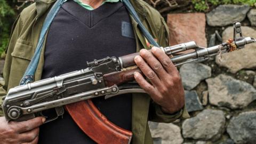
[[[33,43],[18,39],[14,50],[11,53],[12,57],[31,60],[34,54]]]

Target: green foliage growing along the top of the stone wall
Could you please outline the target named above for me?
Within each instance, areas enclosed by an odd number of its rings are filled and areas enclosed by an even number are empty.
[[[209,6],[217,6],[220,4],[248,4],[255,6],[256,0],[192,0],[195,11],[205,12],[209,9]]]

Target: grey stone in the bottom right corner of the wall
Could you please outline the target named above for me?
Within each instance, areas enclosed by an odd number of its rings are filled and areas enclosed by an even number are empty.
[[[235,143],[255,143],[256,111],[241,113],[231,118],[227,132]]]

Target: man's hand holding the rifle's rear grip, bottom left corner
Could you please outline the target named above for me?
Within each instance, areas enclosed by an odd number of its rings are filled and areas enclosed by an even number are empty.
[[[36,117],[24,122],[7,122],[0,117],[0,140],[2,144],[36,144],[38,142],[39,126],[45,118]]]

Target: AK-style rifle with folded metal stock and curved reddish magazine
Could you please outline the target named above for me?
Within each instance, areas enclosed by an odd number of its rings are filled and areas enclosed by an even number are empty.
[[[204,48],[195,42],[170,47],[161,47],[167,55],[194,49],[194,52],[171,58],[175,66],[197,60],[206,60],[211,56],[244,48],[246,44],[256,42],[254,38],[243,37],[241,24],[234,23],[234,39],[226,43]],[[139,53],[115,58],[87,62],[88,68],[72,73],[43,79],[34,83],[17,86],[7,93],[3,102],[3,111],[7,121],[26,121],[44,116],[43,110],[55,108],[57,116],[62,116],[63,106],[73,117],[77,125],[98,143],[130,143],[132,133],[124,130],[103,116],[90,99],[105,96],[111,98],[124,93],[145,93],[134,80],[134,57]],[[128,69],[127,69],[128,68]],[[72,103],[71,105],[68,105]],[[45,116],[44,116],[45,117]]]

